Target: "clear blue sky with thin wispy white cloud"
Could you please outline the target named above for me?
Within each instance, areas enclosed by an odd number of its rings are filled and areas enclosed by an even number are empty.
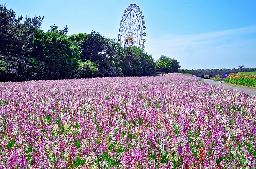
[[[256,0],[3,0],[16,17],[44,16],[42,29],[68,25],[68,35],[96,30],[118,38],[122,14],[137,4],[145,52],[174,58],[183,69],[256,68]]]

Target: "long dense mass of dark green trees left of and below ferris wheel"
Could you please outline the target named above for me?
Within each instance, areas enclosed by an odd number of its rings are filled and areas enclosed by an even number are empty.
[[[123,48],[96,31],[67,36],[67,26],[40,29],[44,17],[16,18],[0,4],[0,81],[149,76],[156,63],[144,50]]]

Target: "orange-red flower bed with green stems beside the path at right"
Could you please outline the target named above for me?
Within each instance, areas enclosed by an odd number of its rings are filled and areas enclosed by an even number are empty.
[[[236,85],[247,85],[256,87],[256,75],[236,75],[232,74],[225,78],[224,82]]]

